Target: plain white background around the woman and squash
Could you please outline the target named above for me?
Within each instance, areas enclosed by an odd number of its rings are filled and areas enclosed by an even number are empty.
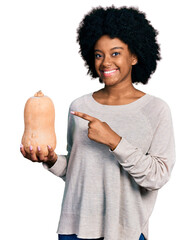
[[[78,54],[76,29],[92,7],[111,4],[139,7],[159,31],[162,60],[149,84],[136,87],[169,104],[177,161],[171,180],[159,191],[150,219],[150,240],[196,239],[194,1],[3,0],[0,2],[2,240],[57,239],[64,183],[20,154],[24,104],[40,89],[52,98],[56,109],[56,152],[66,154],[69,104],[103,87],[86,75]]]

